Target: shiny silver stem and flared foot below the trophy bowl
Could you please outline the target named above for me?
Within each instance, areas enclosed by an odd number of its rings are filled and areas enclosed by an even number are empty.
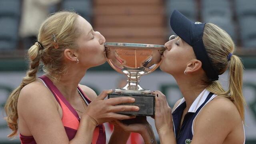
[[[140,86],[141,75],[126,75],[128,80],[126,86],[117,88],[117,93],[151,94],[151,91]]]

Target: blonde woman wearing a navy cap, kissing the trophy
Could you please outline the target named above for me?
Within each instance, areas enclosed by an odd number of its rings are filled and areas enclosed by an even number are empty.
[[[162,71],[171,74],[184,98],[174,108],[157,91],[155,125],[161,144],[244,144],[243,65],[234,42],[218,26],[191,22],[177,10],[162,56]],[[218,76],[229,69],[225,91]],[[172,113],[171,113],[172,111]]]

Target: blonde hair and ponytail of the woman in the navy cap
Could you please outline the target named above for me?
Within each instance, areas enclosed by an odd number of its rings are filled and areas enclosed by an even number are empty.
[[[246,104],[242,93],[244,66],[238,56],[232,55],[235,47],[234,42],[224,30],[211,23],[206,23],[204,27],[203,42],[218,74],[223,74],[228,66],[230,67],[228,90],[225,91],[218,81],[204,80],[208,85],[207,90],[229,98],[238,109],[242,120],[244,120],[244,105]]]

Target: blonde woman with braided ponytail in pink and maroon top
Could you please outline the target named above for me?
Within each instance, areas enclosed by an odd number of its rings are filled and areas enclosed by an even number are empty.
[[[104,100],[112,90],[97,97],[79,84],[89,68],[106,62],[104,42],[104,36],[74,12],[47,18],[38,42],[28,50],[26,77],[6,102],[9,137],[19,131],[22,144],[106,144],[104,122],[134,118],[116,112],[137,111],[137,106],[114,106],[133,98]],[[45,75],[37,78],[40,63]],[[126,143],[129,134],[115,128],[110,141]]]

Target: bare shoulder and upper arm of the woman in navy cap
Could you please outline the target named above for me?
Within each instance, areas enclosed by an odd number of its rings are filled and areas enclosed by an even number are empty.
[[[217,96],[204,106],[194,120],[192,144],[222,144],[232,129],[238,128],[241,123],[236,106],[227,98]],[[243,142],[237,141],[240,144]]]

